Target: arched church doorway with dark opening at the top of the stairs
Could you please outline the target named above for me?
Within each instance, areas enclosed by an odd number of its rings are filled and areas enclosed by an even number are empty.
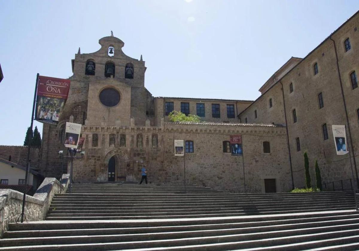
[[[108,181],[126,181],[126,159],[122,155],[113,155],[108,160]]]

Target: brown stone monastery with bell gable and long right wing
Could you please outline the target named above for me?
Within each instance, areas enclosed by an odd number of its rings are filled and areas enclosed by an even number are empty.
[[[290,58],[260,88],[255,101],[154,97],[144,83],[145,62],[122,52],[113,36],[93,53],[71,61],[69,98],[58,126],[44,124],[41,163],[60,177],[65,122],[82,124],[83,159],[74,182],[139,181],[143,164],[151,183],[186,183],[233,192],[286,192],[304,183],[303,153],[312,184],[318,160],[323,183],[354,177],[359,162],[359,14],[304,58]],[[171,123],[168,113],[197,114],[203,123]],[[346,125],[349,154],[336,155],[331,125]],[[242,136],[233,156],[231,135]],[[185,157],[174,156],[183,139]],[[346,180],[346,181],[345,181]]]

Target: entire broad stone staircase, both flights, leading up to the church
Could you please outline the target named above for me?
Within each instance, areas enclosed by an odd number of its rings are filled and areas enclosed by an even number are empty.
[[[348,192],[233,194],[197,185],[74,184],[0,250],[359,250]]]

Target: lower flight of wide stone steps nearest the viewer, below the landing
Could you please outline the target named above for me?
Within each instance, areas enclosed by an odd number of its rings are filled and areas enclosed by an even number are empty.
[[[315,241],[322,243],[318,246]],[[273,246],[283,246],[275,250],[303,250],[358,241],[359,214],[344,211],[192,221],[10,224],[9,232],[0,242],[0,250],[133,250],[144,247],[143,250],[270,250]],[[293,243],[301,248],[293,249]]]

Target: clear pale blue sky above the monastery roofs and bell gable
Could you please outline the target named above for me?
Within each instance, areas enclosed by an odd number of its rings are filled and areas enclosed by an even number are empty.
[[[71,76],[78,48],[97,51],[111,30],[126,55],[143,55],[154,96],[255,100],[291,56],[358,9],[358,0],[0,0],[0,145],[23,145],[37,72]]]

